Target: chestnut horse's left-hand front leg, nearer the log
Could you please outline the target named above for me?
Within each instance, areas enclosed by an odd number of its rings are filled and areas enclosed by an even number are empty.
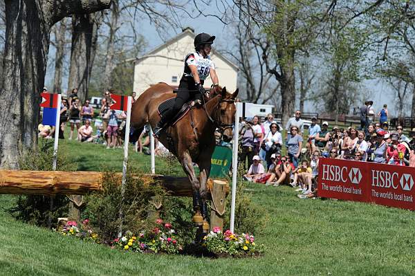
[[[190,183],[192,184],[192,190],[193,190],[193,210],[194,210],[194,216],[193,216],[193,222],[196,224],[196,226],[202,226],[203,225],[203,217],[201,214],[201,194],[199,190],[201,189],[201,183],[199,182],[199,179],[196,177],[196,173],[193,169],[193,162],[192,157],[190,157],[190,154],[188,151],[183,151],[183,154],[181,156],[181,165],[187,174],[187,177],[190,180]]]

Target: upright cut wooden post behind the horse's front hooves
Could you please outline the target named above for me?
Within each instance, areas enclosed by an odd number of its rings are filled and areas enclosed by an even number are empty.
[[[214,180],[212,184],[212,210],[210,211],[210,230],[219,227],[223,230],[223,214],[225,214],[226,192],[228,183]]]

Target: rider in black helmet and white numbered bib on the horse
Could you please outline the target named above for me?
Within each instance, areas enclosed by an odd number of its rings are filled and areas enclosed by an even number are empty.
[[[178,85],[174,106],[163,113],[154,129],[154,137],[158,138],[161,129],[169,123],[169,120],[174,118],[174,115],[180,111],[185,102],[194,98],[194,104],[201,104],[205,94],[203,83],[209,74],[213,85],[219,85],[214,63],[209,56],[214,39],[214,36],[210,36],[207,33],[200,33],[194,38],[194,49],[196,52],[187,54],[185,57],[185,71]]]

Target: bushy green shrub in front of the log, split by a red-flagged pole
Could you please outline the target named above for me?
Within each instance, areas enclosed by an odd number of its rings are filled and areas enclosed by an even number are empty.
[[[134,175],[134,177],[133,177]],[[129,170],[125,185],[124,200],[121,195],[121,179],[113,172],[104,173],[101,193],[92,193],[84,197],[86,207],[82,218],[89,219],[91,226],[104,242],[117,236],[120,226],[120,208],[122,208],[122,232],[140,232],[151,228],[155,221],[148,221],[147,215],[154,211],[152,200],[163,201],[165,191],[159,185],[151,185],[151,178],[139,172]]]

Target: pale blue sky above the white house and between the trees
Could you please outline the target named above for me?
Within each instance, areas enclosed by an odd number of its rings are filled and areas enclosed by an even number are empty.
[[[216,12],[216,10],[205,10],[205,12]],[[216,40],[214,47],[216,48],[225,48],[229,49],[230,45],[232,45],[232,35],[231,33],[231,27],[226,26],[223,24],[219,19],[216,19],[216,17],[199,17],[196,19],[190,19],[188,17],[181,18],[181,26],[182,28],[185,28],[187,26],[193,28],[195,30],[195,33],[209,33],[210,35],[215,35]],[[156,46],[159,46],[160,44],[163,44],[167,39],[170,39],[177,35],[178,33],[181,33],[181,28],[175,28],[172,27],[163,30],[163,34],[159,34],[155,28],[154,25],[152,25],[148,19],[144,18],[142,20],[142,24],[139,26],[136,25],[136,28],[138,28],[138,33],[140,33],[147,42],[147,48],[145,52],[156,48]],[[123,30],[127,31],[128,30]],[[192,49],[190,49],[192,50]],[[50,53],[49,56],[53,57],[55,55],[55,49],[53,47],[50,47]],[[50,59],[51,60],[51,59]],[[50,68],[52,67],[52,68]],[[219,76],[220,77],[220,76]],[[46,72],[46,84],[50,85],[53,83],[53,66],[48,66],[48,71]],[[63,80],[63,84],[67,83],[67,80]],[[64,87],[65,88],[65,87]],[[395,112],[395,104],[394,104],[394,93],[391,91],[389,86],[385,84],[384,82],[381,82],[379,80],[365,80],[362,82],[362,95],[363,98],[367,100],[373,100],[374,101],[374,108],[376,113],[382,109],[383,104],[388,104],[388,110],[389,113],[394,116],[397,115]],[[297,99],[297,105],[298,105],[298,99]],[[358,104],[361,105],[361,104]],[[305,106],[306,111],[308,112],[314,112],[314,104],[311,102],[306,102]],[[351,107],[353,109],[353,107]]]

